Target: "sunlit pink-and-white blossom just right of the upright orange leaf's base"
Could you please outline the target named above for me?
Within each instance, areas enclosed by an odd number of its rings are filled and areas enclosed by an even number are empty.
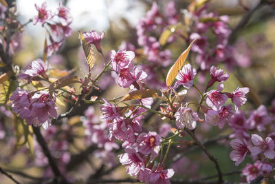
[[[184,68],[182,68],[176,76],[177,82],[175,83],[175,88],[179,85],[184,85],[184,87],[188,89],[191,88],[196,74],[196,69],[192,69],[192,66],[189,63],[184,65]]]

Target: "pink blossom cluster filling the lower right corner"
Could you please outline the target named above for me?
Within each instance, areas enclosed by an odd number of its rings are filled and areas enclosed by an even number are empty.
[[[232,139],[230,145],[233,151],[230,153],[230,159],[236,161],[239,165],[245,160],[247,155],[252,156],[253,164],[248,163],[243,168],[243,176],[246,176],[248,182],[254,180],[257,176],[269,176],[274,167],[272,159],[275,158],[274,151],[274,105],[270,112],[264,105],[260,105],[256,110],[248,114],[248,118],[241,110],[236,112],[232,119],[228,121],[234,133],[230,136]],[[265,136],[260,136],[261,135]]]

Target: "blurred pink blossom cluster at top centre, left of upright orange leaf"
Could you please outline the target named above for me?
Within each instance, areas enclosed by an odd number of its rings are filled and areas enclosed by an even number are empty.
[[[164,87],[164,83],[157,79],[159,71],[156,68],[167,67],[171,63],[171,52],[169,49],[163,49],[158,37],[165,28],[175,25],[178,21],[179,14],[173,1],[168,2],[164,14],[159,10],[157,3],[153,2],[151,10],[146,12],[146,16],[140,20],[136,27],[137,43],[142,46],[143,54],[149,61],[141,65],[141,68],[148,73],[146,83],[150,84],[152,88]],[[172,43],[174,40],[175,37],[170,37],[167,42]],[[132,46],[129,49],[135,48]]]

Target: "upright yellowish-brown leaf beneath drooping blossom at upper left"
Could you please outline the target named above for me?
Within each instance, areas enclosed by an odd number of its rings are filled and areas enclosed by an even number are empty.
[[[87,39],[85,39],[85,37],[83,37],[83,34],[81,32],[79,32],[80,34],[80,40],[82,43],[82,47],[83,50],[85,52],[85,56],[87,59],[87,63],[89,66],[89,72],[91,71],[91,68],[93,68],[94,63],[95,63],[95,57],[94,57],[94,51],[93,48],[91,47],[91,44],[87,41]]]

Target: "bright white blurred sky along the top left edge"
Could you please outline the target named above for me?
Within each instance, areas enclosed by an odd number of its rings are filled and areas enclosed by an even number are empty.
[[[17,0],[17,11],[20,14],[19,19],[24,23],[34,17],[37,11],[34,3],[38,6],[45,0]],[[47,0],[47,9],[55,11],[58,7],[58,1]],[[131,8],[130,7],[131,3]],[[144,15],[144,6],[138,1],[129,0],[69,0],[67,7],[71,9],[72,29],[79,30],[87,28],[88,30],[107,30],[109,28],[109,19],[115,20],[118,17],[124,17],[135,26],[138,20]],[[31,28],[36,31],[35,28]],[[33,30],[34,29],[34,30]]]

